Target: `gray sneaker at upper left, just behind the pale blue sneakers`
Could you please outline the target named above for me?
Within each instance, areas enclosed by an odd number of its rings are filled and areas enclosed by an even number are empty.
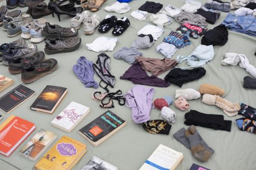
[[[27,23],[31,23],[32,21],[33,20],[30,14],[25,14],[24,16],[21,16],[19,19],[11,21],[7,27],[7,35],[9,37],[13,37],[22,33],[22,26]]]

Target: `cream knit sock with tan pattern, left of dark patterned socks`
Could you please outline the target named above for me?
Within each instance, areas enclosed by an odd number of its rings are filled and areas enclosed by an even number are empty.
[[[219,108],[222,108],[223,110],[226,110],[227,112],[237,112],[241,109],[238,103],[233,103],[229,100],[223,99],[219,95],[216,95],[215,98],[216,98],[215,105]]]

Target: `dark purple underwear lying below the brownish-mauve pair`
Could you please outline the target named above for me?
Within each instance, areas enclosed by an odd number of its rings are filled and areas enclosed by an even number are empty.
[[[140,63],[134,63],[120,79],[127,79],[132,81],[134,84],[142,84],[156,87],[168,87],[169,82],[156,77],[155,75],[148,76],[147,72],[142,69]]]

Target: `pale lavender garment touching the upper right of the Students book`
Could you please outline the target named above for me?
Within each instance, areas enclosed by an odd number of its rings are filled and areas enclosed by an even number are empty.
[[[135,123],[144,123],[150,119],[153,95],[154,88],[142,85],[136,85],[124,94],[126,106],[132,109],[132,119]]]

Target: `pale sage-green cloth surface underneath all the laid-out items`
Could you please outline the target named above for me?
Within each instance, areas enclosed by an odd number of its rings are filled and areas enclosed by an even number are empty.
[[[95,14],[99,14],[101,20],[109,13],[105,11],[103,8],[105,6],[112,5],[115,1],[108,0],[103,4],[101,10],[96,12]],[[121,36],[117,36],[118,41],[114,51],[106,52],[106,54],[111,58],[111,73],[116,77],[116,84],[114,88],[110,88],[111,92],[115,92],[117,90],[121,90],[123,93],[126,93],[130,88],[134,86],[132,82],[128,80],[121,80],[119,77],[123,75],[123,73],[129,68],[129,64],[123,60],[116,60],[113,55],[116,50],[121,49],[122,47],[130,47],[132,42],[137,37],[137,32],[145,25],[152,24],[150,22],[151,13],[148,14],[147,19],[143,21],[136,20],[130,16],[130,13],[134,10],[137,10],[142,4],[144,4],[146,0],[134,0],[129,3],[132,10],[124,13],[117,14],[111,13],[115,15],[117,18],[121,18],[126,16],[130,20],[130,27],[124,32]],[[174,5],[177,8],[181,8],[184,4],[184,0],[182,1],[160,1],[155,0],[154,2],[162,3],[163,5]],[[204,4],[206,1],[201,1]],[[46,1],[47,3],[47,1]],[[5,4],[5,2],[2,2]],[[19,8],[17,8],[19,9]],[[22,11],[25,12],[27,8],[22,8]],[[231,11],[232,13],[234,10]],[[218,19],[215,25],[209,24],[208,28],[211,29],[214,26],[222,23],[227,13],[222,12],[220,18]],[[48,22],[58,24],[63,27],[70,26],[70,17],[61,16],[61,22],[58,21],[57,16],[52,17],[51,15],[44,17]],[[156,46],[159,45],[163,38],[167,36],[171,31],[175,31],[179,24],[172,18],[173,23],[168,26],[164,26],[164,33],[162,36],[154,43],[152,47],[149,49],[140,50],[143,53],[144,57],[152,57],[152,58],[163,58],[162,54],[156,53]],[[34,164],[36,162],[30,161],[29,159],[25,159],[21,157],[18,152],[19,150],[31,139],[31,137],[36,134],[39,129],[43,128],[46,130],[50,130],[55,132],[58,135],[58,139],[67,135],[71,138],[76,139],[87,145],[87,152],[84,157],[73,167],[74,170],[81,169],[86,165],[86,163],[93,157],[100,157],[110,164],[117,166],[120,170],[131,170],[131,169],[139,169],[143,162],[150,156],[150,154],[156,149],[159,144],[166,145],[171,147],[172,149],[183,152],[184,159],[181,164],[177,167],[178,170],[181,169],[189,169],[189,167],[193,164],[199,164],[204,167],[210,169],[246,169],[252,170],[256,169],[255,157],[256,153],[254,148],[256,147],[256,135],[250,134],[248,132],[240,131],[235,123],[235,120],[238,119],[239,115],[234,117],[228,117],[226,114],[222,112],[221,109],[215,106],[209,106],[202,103],[202,97],[197,100],[189,101],[190,109],[198,110],[199,112],[208,113],[208,114],[220,114],[224,115],[225,120],[232,120],[231,132],[220,131],[207,129],[203,127],[197,127],[200,135],[203,137],[205,142],[212,147],[215,152],[212,154],[211,158],[207,162],[199,162],[196,160],[190,150],[188,150],[181,143],[176,141],[172,135],[182,127],[188,128],[184,122],[184,114],[186,112],[182,112],[178,110],[174,105],[171,105],[170,108],[176,112],[176,122],[172,124],[172,128],[170,130],[169,135],[153,135],[146,132],[141,124],[135,124],[131,117],[131,110],[125,106],[119,106],[115,101],[115,107],[110,109],[115,114],[119,115],[122,119],[127,121],[126,127],[122,128],[115,135],[108,138],[101,145],[94,147],[91,143],[89,143],[84,137],[79,135],[78,130],[84,127],[87,123],[94,120],[103,112],[106,112],[107,109],[101,108],[99,106],[99,102],[91,99],[91,95],[95,91],[101,91],[102,88],[94,89],[94,88],[86,88],[84,84],[80,82],[80,80],[73,73],[72,67],[77,62],[80,56],[85,56],[87,60],[91,60],[94,63],[97,60],[97,55],[99,53],[95,53],[94,51],[89,51],[86,48],[86,43],[93,42],[94,39],[99,36],[108,36],[115,37],[111,34],[112,31],[109,31],[106,34],[101,34],[98,30],[95,31],[92,35],[85,35],[84,29],[81,27],[79,29],[79,36],[82,39],[81,46],[78,50],[75,50],[71,53],[63,53],[63,54],[55,54],[55,55],[47,55],[46,58],[55,58],[59,67],[56,71],[51,73],[48,76],[40,78],[36,82],[31,84],[25,84],[25,86],[31,88],[36,92],[31,99],[24,102],[24,104],[20,105],[18,108],[13,110],[11,114],[20,116],[26,120],[29,120],[36,124],[37,129],[26,138],[26,140],[19,146],[17,149],[10,155],[10,157],[0,156],[1,159],[8,161],[10,164],[15,165],[20,169],[33,169]],[[0,30],[0,43],[11,42],[20,38],[20,35],[14,38],[8,38],[6,32]],[[178,49],[172,58],[176,58],[178,55],[189,55],[192,51],[200,45],[200,39],[191,39],[191,45],[186,46],[182,49]],[[29,40],[26,40],[27,44],[30,43]],[[170,95],[173,98],[175,97],[175,90],[184,89],[184,88],[194,88],[195,90],[199,89],[199,86],[203,83],[210,83],[214,85],[218,85],[225,89],[225,95],[223,96],[225,99],[228,99],[233,102],[244,102],[247,105],[256,107],[256,91],[245,89],[243,87],[243,78],[245,76],[250,76],[249,73],[246,72],[245,69],[237,66],[223,66],[221,65],[221,61],[223,60],[223,55],[227,52],[233,52],[238,54],[244,54],[250,64],[256,65],[256,58],[254,56],[256,50],[256,39],[255,37],[248,36],[241,33],[236,33],[229,31],[229,40],[224,46],[215,46],[215,57],[212,61],[205,64],[203,67],[206,70],[206,75],[199,80],[186,83],[182,86],[182,88],[171,84],[167,88],[154,87],[155,94],[154,99],[162,98],[165,95]],[[40,42],[37,44],[38,50],[44,50],[44,42]],[[180,68],[188,67],[188,65],[183,62],[178,65]],[[0,73],[7,77],[12,78],[15,81],[15,84],[1,92],[0,96],[4,95],[6,92],[10,91],[12,88],[16,87],[19,84],[23,84],[20,80],[20,75],[11,75],[8,72],[8,67],[2,65],[0,63]],[[168,73],[165,72],[162,75],[158,76],[160,78],[164,78],[164,76]],[[94,76],[96,82],[100,82],[98,76]],[[38,97],[40,92],[44,89],[46,85],[56,85],[67,87],[68,93],[66,97],[61,101],[58,108],[55,110],[53,114],[45,114],[41,112],[35,112],[30,110],[30,106],[32,102]],[[84,120],[82,120],[77,127],[73,129],[72,132],[67,133],[62,131],[56,127],[51,125],[51,121],[58,115],[61,110],[63,110],[71,101],[78,102],[82,105],[88,106],[91,108],[91,113],[89,113]],[[0,122],[2,123],[6,120],[9,115],[1,112],[0,114],[4,115],[4,119]],[[154,119],[162,119],[160,115],[160,110],[151,109],[150,112],[151,120]],[[52,144],[53,145],[53,144]],[[51,146],[52,146],[51,145]],[[0,165],[3,167],[4,164],[0,162]],[[2,168],[1,168],[2,169]],[[3,169],[12,169],[6,166]]]

